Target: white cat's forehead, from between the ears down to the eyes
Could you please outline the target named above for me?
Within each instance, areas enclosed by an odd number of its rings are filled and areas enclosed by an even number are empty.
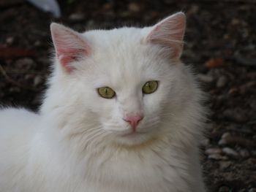
[[[158,80],[165,71],[151,45],[146,45],[148,28],[118,28],[110,31],[89,31],[88,39],[97,70],[97,81],[111,85],[138,85]],[[162,69],[163,70],[162,70]],[[95,76],[94,76],[95,77]],[[100,83],[99,82],[99,83]]]

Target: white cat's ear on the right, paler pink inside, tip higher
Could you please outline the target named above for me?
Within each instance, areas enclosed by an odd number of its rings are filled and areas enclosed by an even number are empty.
[[[170,58],[180,58],[185,28],[186,16],[183,12],[177,12],[153,26],[146,41],[166,47],[170,50]]]

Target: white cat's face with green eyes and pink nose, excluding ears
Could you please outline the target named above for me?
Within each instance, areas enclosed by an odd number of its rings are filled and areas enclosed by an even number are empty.
[[[156,47],[148,47],[137,38],[122,40],[140,36],[140,30],[118,30],[123,31],[104,32],[104,38],[112,39],[108,45],[100,45],[101,38],[91,34],[91,44],[98,44],[95,53],[89,63],[79,66],[75,76],[88,94],[86,107],[97,115],[102,128],[121,142],[138,142],[158,128],[173,72],[165,59],[156,57]]]

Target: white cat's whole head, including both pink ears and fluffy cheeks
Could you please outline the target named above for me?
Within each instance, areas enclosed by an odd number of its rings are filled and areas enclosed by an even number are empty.
[[[45,106],[59,110],[64,128],[94,139],[156,139],[166,122],[176,126],[193,97],[179,61],[185,25],[182,12],[151,27],[83,34],[51,24],[56,66]]]

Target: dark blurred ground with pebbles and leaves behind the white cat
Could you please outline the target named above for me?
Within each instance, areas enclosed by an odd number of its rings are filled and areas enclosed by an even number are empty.
[[[212,111],[207,139],[201,144],[206,185],[210,192],[256,191],[255,0],[57,3],[60,12],[45,12],[24,0],[0,1],[1,104],[37,111],[50,74],[51,22],[82,32],[150,26],[184,11],[187,32],[182,60],[194,66],[209,93],[207,105]]]

